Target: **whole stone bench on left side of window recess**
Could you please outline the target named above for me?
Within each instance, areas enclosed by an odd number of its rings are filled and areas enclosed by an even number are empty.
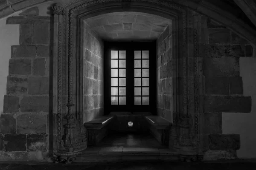
[[[100,116],[84,123],[84,127],[87,130],[87,145],[96,145],[108,135],[107,125],[113,120],[113,117]]]

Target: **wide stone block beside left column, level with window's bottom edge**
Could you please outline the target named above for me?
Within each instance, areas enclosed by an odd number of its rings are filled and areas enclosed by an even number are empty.
[[[26,96],[20,101],[21,112],[48,112],[48,96]]]

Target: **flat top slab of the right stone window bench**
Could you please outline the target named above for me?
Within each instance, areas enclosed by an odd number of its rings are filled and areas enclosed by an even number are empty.
[[[161,116],[145,116],[148,123],[157,129],[168,129],[172,126],[172,122]]]

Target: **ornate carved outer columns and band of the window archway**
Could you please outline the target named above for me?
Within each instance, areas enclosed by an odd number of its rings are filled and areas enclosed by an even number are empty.
[[[61,38],[58,37],[59,41],[61,41],[59,42],[59,45],[61,46],[60,48],[58,48],[58,50],[60,49],[60,51],[58,51],[58,57],[61,58],[58,60],[58,114],[66,114],[66,124],[64,126],[64,131],[62,131],[61,127],[63,124],[61,124],[62,120],[61,116],[59,116],[58,136],[61,137],[61,140],[63,141],[61,141],[60,144],[60,153],[55,154],[57,155],[58,161],[65,161],[69,163],[70,161],[75,159],[75,155],[79,153],[79,151],[83,150],[82,147],[84,146],[83,144],[81,144],[81,142],[78,142],[79,133],[84,132],[84,130],[82,130],[81,126],[79,126],[79,121],[76,120],[76,114],[73,113],[73,63],[74,60],[77,59],[77,56],[74,56],[75,53],[73,53],[74,50],[77,50],[73,46],[74,42],[76,42],[76,35],[73,34],[75,29],[74,23],[76,20],[76,16],[73,16],[75,15],[74,12],[82,8],[88,8],[97,4],[109,2],[121,3],[125,1],[145,2],[167,6],[172,10],[179,11],[182,16],[182,43],[179,48],[181,48],[180,51],[182,51],[183,54],[180,54],[181,58],[177,58],[180,59],[180,63],[182,63],[181,65],[179,65],[179,67],[181,68],[177,68],[177,70],[182,71],[183,83],[182,85],[179,85],[179,87],[182,88],[183,91],[183,96],[180,96],[183,100],[183,111],[177,111],[178,114],[177,116],[175,116],[173,126],[175,130],[172,130],[172,132],[175,133],[172,133],[172,136],[174,136],[175,139],[173,143],[177,147],[195,147],[195,136],[197,136],[198,133],[198,117],[196,116],[198,99],[196,99],[195,95],[197,94],[196,89],[194,91],[193,88],[197,86],[197,75],[195,73],[197,71],[197,66],[196,61],[194,62],[193,60],[188,60],[187,58],[187,27],[191,27],[191,22],[189,22],[189,25],[187,25],[187,18],[189,18],[189,20],[191,21],[192,16],[189,14],[189,17],[187,17],[187,11],[183,7],[177,6],[175,3],[172,3],[170,0],[88,0],[86,2],[84,2],[83,0],[75,0],[71,3],[66,4],[63,8],[56,5],[52,6],[53,14],[63,15],[63,27],[62,30],[59,31],[61,34]],[[67,11],[67,13],[65,13],[64,11]],[[68,37],[66,38],[66,36]],[[190,32],[189,36],[192,36]],[[192,79],[188,78],[188,75],[192,76]],[[79,81],[76,80],[76,82]],[[189,100],[188,96],[190,97]],[[64,103],[67,103],[67,106],[63,105]],[[190,114],[189,112],[193,114]],[[64,136],[61,136],[63,133]]]

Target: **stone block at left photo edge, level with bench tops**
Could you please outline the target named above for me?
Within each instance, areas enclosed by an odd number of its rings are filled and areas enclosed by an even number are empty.
[[[0,133],[15,134],[16,133],[16,119],[12,113],[0,114]]]

